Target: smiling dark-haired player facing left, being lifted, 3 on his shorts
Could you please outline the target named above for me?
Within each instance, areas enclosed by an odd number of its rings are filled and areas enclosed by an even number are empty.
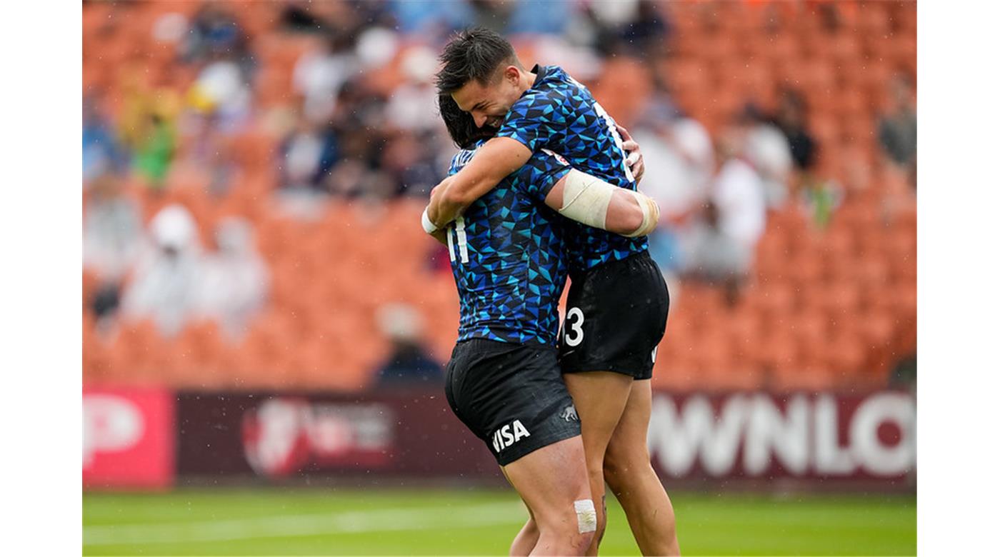
[[[477,126],[500,129],[474,159],[438,185],[425,212],[425,229],[451,222],[545,149],[576,170],[636,189],[614,120],[561,68],[527,71],[510,43],[486,29],[457,35],[441,60],[439,92],[450,94]],[[575,181],[567,184],[566,195],[585,206],[609,203],[606,193]],[[572,283],[559,361],[581,420],[591,493],[602,501],[588,554],[597,554],[604,531],[605,481],[644,554],[679,554],[673,507],[646,447],[650,379],[669,310],[666,284],[645,237],[609,234],[593,227],[599,224],[593,215],[581,216],[584,224],[573,224],[566,236]],[[522,533],[533,527],[540,525],[529,520]]]

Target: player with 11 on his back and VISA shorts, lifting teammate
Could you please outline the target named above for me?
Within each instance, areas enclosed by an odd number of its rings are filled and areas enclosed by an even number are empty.
[[[448,95],[441,115],[462,149],[450,173],[474,160],[496,129],[477,128]],[[580,438],[580,424],[560,377],[556,352],[558,303],[566,254],[553,190],[575,172],[561,157],[539,152],[471,204],[447,228],[433,231],[448,245],[461,301],[458,343],[448,363],[445,393],[455,414],[496,457],[528,507],[530,530],[515,537],[514,554],[583,554],[597,527]],[[591,177],[614,200],[610,230],[648,232],[642,205],[655,203]],[[561,197],[561,195],[560,195]]]

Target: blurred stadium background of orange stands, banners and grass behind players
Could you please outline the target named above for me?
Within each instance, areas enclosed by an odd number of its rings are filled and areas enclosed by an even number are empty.
[[[642,146],[682,550],[916,552],[915,2],[82,13],[84,553],[506,553],[525,514],[443,401],[458,304],[418,225],[471,25]]]

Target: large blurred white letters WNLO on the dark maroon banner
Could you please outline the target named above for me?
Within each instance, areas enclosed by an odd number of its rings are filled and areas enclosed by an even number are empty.
[[[717,400],[714,408],[704,395],[680,404],[654,395],[650,454],[674,477],[692,473],[696,465],[714,477],[740,471],[761,476],[775,463],[793,477],[859,472],[893,477],[916,466],[916,403],[911,395],[877,393],[861,400],[853,412],[842,412],[829,394],[793,395],[783,407],[766,394],[734,394]],[[898,440],[880,438],[879,428],[886,424],[895,426]]]

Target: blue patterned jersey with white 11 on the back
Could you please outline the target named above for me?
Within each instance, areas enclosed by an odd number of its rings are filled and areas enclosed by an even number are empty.
[[[476,151],[460,151],[449,175]],[[485,338],[554,345],[566,284],[563,219],[545,196],[570,167],[538,152],[448,226],[448,255],[458,287],[458,340]]]

